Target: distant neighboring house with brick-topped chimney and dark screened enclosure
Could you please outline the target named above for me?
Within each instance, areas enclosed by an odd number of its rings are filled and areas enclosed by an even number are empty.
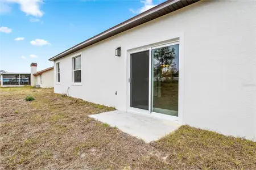
[[[31,63],[31,73],[9,73],[1,72],[1,86],[15,87],[36,84],[39,87],[53,87],[53,67],[37,72],[37,63]]]

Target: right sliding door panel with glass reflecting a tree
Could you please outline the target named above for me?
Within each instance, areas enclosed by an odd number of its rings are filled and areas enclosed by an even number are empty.
[[[151,50],[151,111],[178,116],[179,44]]]

